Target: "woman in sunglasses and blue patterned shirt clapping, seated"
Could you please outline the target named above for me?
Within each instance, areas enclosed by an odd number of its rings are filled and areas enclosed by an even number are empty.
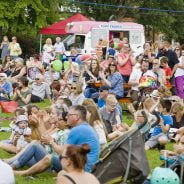
[[[100,78],[110,87],[109,92],[115,94],[117,99],[120,99],[124,95],[123,78],[118,72],[116,62],[112,61],[107,70],[109,73],[107,79],[104,72],[100,72]]]

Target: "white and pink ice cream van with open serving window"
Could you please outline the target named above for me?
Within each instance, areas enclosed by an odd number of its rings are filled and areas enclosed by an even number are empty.
[[[71,47],[82,49],[82,53],[91,53],[95,50],[99,39],[107,40],[109,43],[113,38],[128,38],[134,56],[143,52],[145,43],[144,26],[133,22],[97,22],[81,21],[72,22],[67,25],[67,36],[63,43],[66,50]]]

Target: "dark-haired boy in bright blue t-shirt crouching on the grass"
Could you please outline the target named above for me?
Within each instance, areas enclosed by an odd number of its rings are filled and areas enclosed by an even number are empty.
[[[145,150],[154,148],[157,145],[165,146],[168,142],[168,132],[173,124],[173,119],[169,114],[172,103],[169,100],[161,100],[158,105],[160,112],[160,122],[153,129],[150,139],[145,143]]]

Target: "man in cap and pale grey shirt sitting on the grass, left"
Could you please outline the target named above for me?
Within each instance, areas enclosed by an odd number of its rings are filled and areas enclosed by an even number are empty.
[[[43,81],[41,74],[36,76],[35,82],[32,84],[31,102],[41,102],[45,96],[51,101],[51,90],[49,85]]]

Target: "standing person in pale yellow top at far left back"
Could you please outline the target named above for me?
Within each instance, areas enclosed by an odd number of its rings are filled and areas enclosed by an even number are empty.
[[[15,36],[12,37],[12,42],[9,44],[8,49],[10,50],[11,59],[16,59],[22,54],[22,49],[20,44],[17,43],[17,38]]]

